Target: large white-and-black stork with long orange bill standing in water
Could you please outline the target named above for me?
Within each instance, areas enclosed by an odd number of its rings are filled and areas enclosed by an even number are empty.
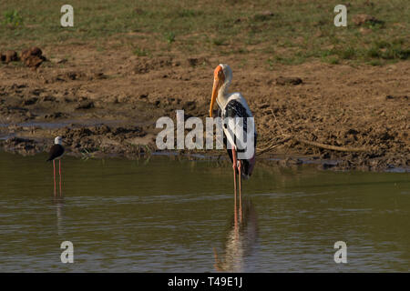
[[[213,105],[215,101],[218,103],[220,110],[219,116],[222,120],[229,120],[229,122],[224,123],[223,133],[224,133],[224,144],[227,147],[228,155],[231,158],[233,167],[233,183],[235,199],[237,196],[237,175],[239,174],[239,192],[240,192],[240,202],[241,202],[241,177],[248,179],[255,166],[255,152],[256,152],[256,128],[253,125],[253,145],[252,148],[245,147],[241,144],[243,142],[243,137],[248,135],[248,118],[253,117],[251,109],[246,103],[245,98],[241,93],[228,93],[228,88],[232,81],[232,70],[229,65],[220,64],[216,67],[214,71],[213,88],[212,95],[210,99],[210,117],[212,117]],[[238,118],[240,117],[240,118]],[[237,126],[238,120],[241,119],[241,131],[238,132]],[[239,135],[241,136],[237,136]],[[228,144],[229,141],[229,144]],[[231,146],[230,146],[231,145]],[[251,157],[241,159],[238,157],[238,153],[243,153],[245,151],[251,150]]]

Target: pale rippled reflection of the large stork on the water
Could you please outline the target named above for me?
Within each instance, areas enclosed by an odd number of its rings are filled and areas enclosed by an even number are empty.
[[[243,272],[246,267],[246,258],[251,256],[258,236],[258,218],[251,200],[243,197],[234,199],[233,221],[227,240],[224,244],[224,254],[218,256],[216,248],[213,248],[215,256],[215,269],[220,272]]]

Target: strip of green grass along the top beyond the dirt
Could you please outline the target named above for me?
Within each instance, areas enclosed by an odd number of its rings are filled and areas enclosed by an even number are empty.
[[[105,43],[120,40],[135,55],[170,50],[190,55],[251,54],[287,65],[313,59],[369,65],[408,60],[410,2],[372,2],[350,2],[347,27],[335,27],[333,7],[338,0],[72,0],[74,27],[64,28],[62,3],[14,0],[2,2],[0,50],[89,43],[107,49]],[[359,27],[351,21],[356,14],[374,15],[381,22]]]

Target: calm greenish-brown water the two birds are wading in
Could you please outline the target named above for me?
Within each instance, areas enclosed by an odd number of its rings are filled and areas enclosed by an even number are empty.
[[[65,156],[55,198],[45,159],[0,153],[2,272],[410,270],[408,173],[257,164],[235,216],[228,164]]]

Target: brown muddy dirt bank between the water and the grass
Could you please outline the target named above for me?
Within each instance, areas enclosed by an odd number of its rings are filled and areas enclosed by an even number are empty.
[[[73,57],[65,59],[67,49]],[[226,63],[233,70],[231,92],[241,92],[255,116],[260,159],[282,165],[320,160],[333,169],[409,167],[408,61],[270,68],[258,55],[243,65],[234,55],[137,56],[87,45],[46,47],[43,55],[53,58],[36,71],[0,66],[5,151],[33,155],[62,135],[71,155],[147,155],[157,151],[159,116],[175,118],[179,109],[208,115],[213,69]]]

